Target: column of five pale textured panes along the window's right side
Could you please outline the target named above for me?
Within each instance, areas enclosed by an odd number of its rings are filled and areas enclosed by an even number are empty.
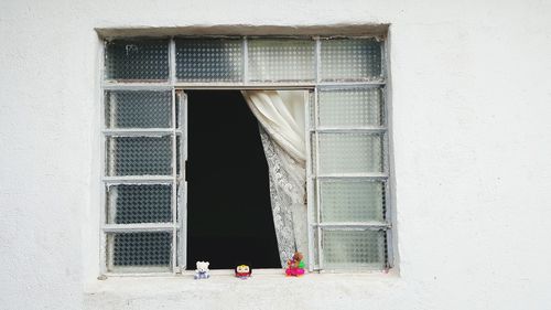
[[[385,85],[355,85],[383,81],[381,52],[375,40],[321,41],[318,78],[342,84],[316,87],[310,107],[314,167],[309,182],[315,191],[310,227],[318,236],[314,265],[318,261],[320,269],[389,265]]]

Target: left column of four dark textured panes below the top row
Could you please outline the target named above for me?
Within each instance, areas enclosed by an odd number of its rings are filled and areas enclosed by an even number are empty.
[[[182,167],[174,90],[110,88],[102,109],[105,271],[174,271]]]

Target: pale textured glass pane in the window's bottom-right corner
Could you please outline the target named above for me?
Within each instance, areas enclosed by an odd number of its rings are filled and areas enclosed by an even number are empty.
[[[322,231],[324,269],[385,269],[385,231]]]

